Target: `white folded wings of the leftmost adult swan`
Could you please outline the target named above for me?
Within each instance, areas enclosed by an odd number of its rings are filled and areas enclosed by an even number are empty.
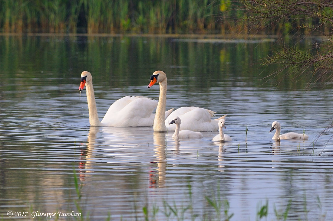
[[[148,97],[126,96],[113,103],[102,124],[112,127],[152,126],[158,102]]]

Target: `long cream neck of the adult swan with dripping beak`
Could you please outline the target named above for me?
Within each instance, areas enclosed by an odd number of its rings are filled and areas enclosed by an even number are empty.
[[[102,125],[101,121],[98,119],[95,92],[94,92],[92,81],[89,81],[86,83],[86,91],[87,91],[90,126],[101,126]]]

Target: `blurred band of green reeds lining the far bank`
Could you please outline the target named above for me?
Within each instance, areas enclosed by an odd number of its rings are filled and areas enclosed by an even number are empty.
[[[261,1],[264,2],[264,1]],[[251,19],[265,5],[244,0],[0,0],[2,33],[306,34],[322,21],[300,14]],[[251,10],[257,7],[258,11]],[[322,12],[333,15],[331,7]],[[267,25],[268,24],[268,25]],[[327,26],[318,27],[328,33]],[[312,33],[315,34],[315,33]]]

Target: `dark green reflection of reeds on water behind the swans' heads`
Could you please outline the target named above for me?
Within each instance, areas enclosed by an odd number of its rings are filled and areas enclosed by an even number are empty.
[[[15,90],[17,85],[72,84],[71,78],[79,79],[88,70],[96,86],[142,86],[160,69],[169,83],[176,80],[189,92],[204,92],[219,82],[303,89],[311,76],[286,70],[270,77],[278,66],[260,64],[278,48],[274,42],[201,43],[166,37],[1,36],[0,85]]]

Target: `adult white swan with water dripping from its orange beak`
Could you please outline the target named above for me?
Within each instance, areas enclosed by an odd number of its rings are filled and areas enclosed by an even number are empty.
[[[86,86],[87,101],[89,109],[89,123],[91,126],[107,127],[139,127],[152,126],[154,123],[154,109],[158,102],[148,97],[126,96],[116,100],[106,112],[102,121],[98,118],[95,93],[93,88],[93,77],[88,71],[81,73],[81,84],[79,90]],[[167,117],[173,108],[165,112]]]

